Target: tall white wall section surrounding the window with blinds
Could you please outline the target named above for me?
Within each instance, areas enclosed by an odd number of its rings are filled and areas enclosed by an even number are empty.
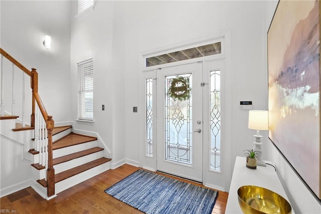
[[[115,129],[114,124],[122,120],[123,81],[116,79],[112,64],[112,21],[113,11],[111,1],[95,1],[94,10],[87,16],[79,17],[77,1],[72,1],[71,9],[71,43],[70,43],[70,83],[71,83],[71,117],[74,128],[98,133],[101,140],[112,152],[112,161],[117,162],[125,158],[124,152],[114,155],[112,143],[123,144],[121,135],[113,139],[114,131],[122,132],[120,125]],[[94,64],[94,122],[76,121],[77,115],[77,63],[93,58]],[[115,87],[115,88],[114,88]],[[120,94],[119,94],[120,93]],[[102,111],[102,104],[105,110]],[[117,116],[113,114],[120,114]],[[123,148],[120,146],[119,148]],[[123,149],[122,149],[123,151]]]

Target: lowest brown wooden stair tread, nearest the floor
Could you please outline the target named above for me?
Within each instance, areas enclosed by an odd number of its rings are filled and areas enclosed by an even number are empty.
[[[82,173],[88,169],[91,169],[91,168],[94,168],[94,167],[99,166],[101,164],[107,163],[110,160],[111,160],[110,158],[102,157],[97,160],[90,161],[90,162],[85,163],[83,165],[77,166],[75,168],[60,172],[55,175],[55,183],[58,183],[62,180],[65,180],[65,179],[70,178],[74,175]],[[42,186],[47,187],[47,182],[45,181],[45,179],[37,180],[37,182],[40,183]]]

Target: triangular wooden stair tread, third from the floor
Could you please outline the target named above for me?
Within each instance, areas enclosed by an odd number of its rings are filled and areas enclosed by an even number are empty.
[[[69,135],[53,142],[52,149],[53,150],[61,149],[61,148],[65,148],[68,146],[74,146],[74,145],[87,143],[87,142],[95,141],[95,140],[97,140],[96,137],[70,133]]]

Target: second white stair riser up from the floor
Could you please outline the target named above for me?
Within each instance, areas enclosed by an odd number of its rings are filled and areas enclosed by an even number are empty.
[[[80,158],[76,158],[64,163],[60,163],[57,165],[54,165],[54,169],[55,169],[55,174],[58,174],[60,172],[66,171],[68,169],[74,168],[76,166],[80,166],[82,164],[88,163],[90,161],[96,160],[98,158],[103,157],[103,152],[95,152],[93,154],[90,155],[86,155]]]

